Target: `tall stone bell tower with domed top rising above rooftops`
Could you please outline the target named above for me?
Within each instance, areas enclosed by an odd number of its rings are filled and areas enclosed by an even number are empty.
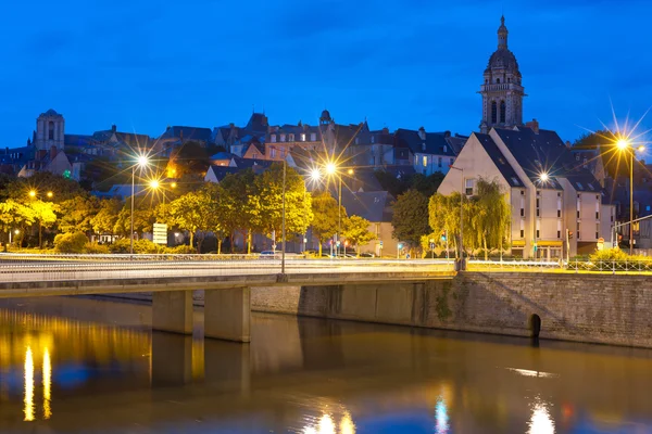
[[[480,131],[487,133],[492,127],[512,128],[523,125],[524,88],[516,56],[507,49],[505,17],[500,18],[498,50],[489,58],[485,69],[482,95],[482,120]]]

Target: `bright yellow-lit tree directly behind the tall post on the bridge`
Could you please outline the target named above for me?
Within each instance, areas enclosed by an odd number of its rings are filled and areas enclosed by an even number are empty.
[[[283,171],[284,164],[273,164],[255,178],[255,194],[249,196],[254,227],[277,238],[283,224]],[[303,178],[291,167],[286,170],[285,197],[286,233],[305,233],[313,219],[311,195],[305,191]]]

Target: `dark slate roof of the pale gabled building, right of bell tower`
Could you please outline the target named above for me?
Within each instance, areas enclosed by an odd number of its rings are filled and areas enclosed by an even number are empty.
[[[559,183],[554,178],[567,178],[577,191],[601,192],[600,182],[581,164],[575,162],[572,152],[555,131],[540,129],[537,133],[525,127],[494,130],[537,186],[541,184],[541,174],[547,174],[553,188]]]

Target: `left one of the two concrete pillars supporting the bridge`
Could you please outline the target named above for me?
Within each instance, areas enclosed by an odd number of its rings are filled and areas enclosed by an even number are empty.
[[[192,334],[192,291],[152,293],[152,330]]]

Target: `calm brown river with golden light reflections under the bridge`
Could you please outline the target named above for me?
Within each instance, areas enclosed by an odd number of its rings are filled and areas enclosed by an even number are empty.
[[[652,434],[652,350],[266,314],[242,345],[195,320],[0,301],[0,433]]]

